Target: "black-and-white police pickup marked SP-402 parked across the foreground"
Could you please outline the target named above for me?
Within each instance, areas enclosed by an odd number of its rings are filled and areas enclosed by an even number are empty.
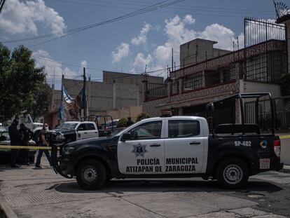
[[[207,118],[222,102],[242,103],[247,96],[208,104]],[[64,177],[75,176],[79,186],[89,190],[100,189],[111,178],[160,177],[211,178],[226,189],[239,188],[251,175],[283,168],[274,130],[261,134],[257,124],[245,124],[243,112],[241,116],[241,124],[211,125],[212,134],[207,119],[198,116],[147,118],[110,137],[66,144],[62,156],[57,157],[53,148],[53,166]]]

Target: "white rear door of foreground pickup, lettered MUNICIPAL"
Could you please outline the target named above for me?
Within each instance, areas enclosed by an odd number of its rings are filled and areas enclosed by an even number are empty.
[[[200,121],[166,121],[167,139],[165,139],[165,173],[200,173],[205,152],[205,140],[200,131]]]

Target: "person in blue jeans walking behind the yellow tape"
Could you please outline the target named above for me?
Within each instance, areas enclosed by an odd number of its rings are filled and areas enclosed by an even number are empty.
[[[44,123],[42,130],[39,132],[38,146],[40,146],[40,147],[48,146],[48,141],[46,139],[46,131],[47,130],[48,130],[48,124]],[[44,152],[44,154],[46,154],[46,158],[48,158],[48,162],[49,162],[50,166],[53,165],[51,162],[51,157],[50,157],[49,151],[46,149],[39,149],[39,154],[37,155],[37,158],[36,158],[35,168],[42,168],[40,163],[41,163],[41,157],[42,157],[43,152]]]

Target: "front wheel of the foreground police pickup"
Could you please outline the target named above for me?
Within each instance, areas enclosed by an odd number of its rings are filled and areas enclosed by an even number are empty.
[[[82,189],[101,189],[106,182],[106,169],[97,160],[81,161],[76,168],[76,181]]]

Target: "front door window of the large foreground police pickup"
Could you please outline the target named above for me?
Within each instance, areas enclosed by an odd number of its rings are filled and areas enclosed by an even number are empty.
[[[160,139],[162,121],[142,123],[130,130],[131,140],[137,139]]]

